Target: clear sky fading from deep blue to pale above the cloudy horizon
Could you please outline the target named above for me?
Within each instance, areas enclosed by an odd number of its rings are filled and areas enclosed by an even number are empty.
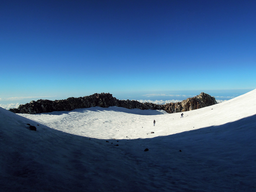
[[[256,1],[2,1],[0,98],[253,90],[255,8]]]

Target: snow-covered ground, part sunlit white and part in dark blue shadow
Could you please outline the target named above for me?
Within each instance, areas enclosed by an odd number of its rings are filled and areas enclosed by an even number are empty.
[[[0,108],[0,190],[255,192],[255,98],[256,89],[184,118],[119,107]]]

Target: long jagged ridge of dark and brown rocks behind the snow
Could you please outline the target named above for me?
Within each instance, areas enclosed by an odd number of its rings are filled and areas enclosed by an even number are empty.
[[[89,108],[89,107],[109,107],[118,106],[127,109],[152,109],[152,110],[164,110],[167,113],[177,113],[183,111],[191,111],[194,109],[199,109],[205,106],[210,106],[216,104],[214,97],[202,92],[196,97],[188,98],[182,102],[177,103],[166,103],[164,105],[154,104],[154,103],[140,103],[135,100],[118,100],[112,96],[110,93],[94,93],[90,96],[74,98],[70,97],[64,100],[37,100],[31,101],[24,105],[19,105],[18,109],[10,109],[14,113],[49,113],[52,111],[72,111],[79,108]]]

